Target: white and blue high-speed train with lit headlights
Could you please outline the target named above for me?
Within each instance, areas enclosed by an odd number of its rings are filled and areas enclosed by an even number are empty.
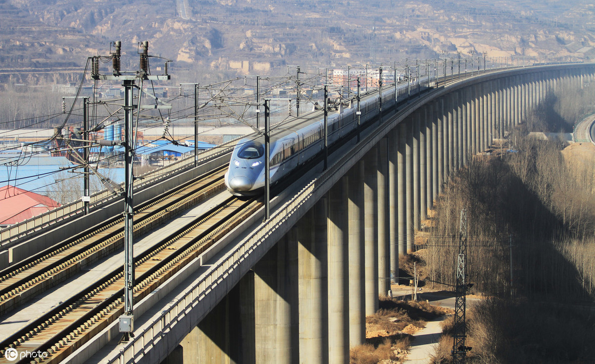
[[[427,78],[422,83],[429,84]],[[421,90],[427,86],[421,86]],[[412,94],[418,92],[412,90]],[[395,93],[397,98],[395,98]],[[382,90],[383,109],[393,108],[396,100],[403,100],[409,93],[408,84],[394,84]],[[373,90],[360,98],[360,123],[369,123],[378,109],[378,90]],[[337,111],[329,111],[327,115],[328,146],[336,143],[346,134],[355,130],[358,124],[356,101],[352,107]],[[265,186],[265,159],[270,161],[270,184],[293,171],[298,165],[324,150],[324,111],[314,110],[275,125],[270,132],[270,154],[265,156],[265,140],[263,135],[250,134],[240,140],[231,154],[229,168],[225,174],[227,190],[236,196],[254,196],[262,193]]]

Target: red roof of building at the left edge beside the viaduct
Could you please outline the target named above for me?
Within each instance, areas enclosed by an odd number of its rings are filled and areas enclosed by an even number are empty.
[[[0,187],[0,227],[17,224],[55,209],[60,203],[14,186]]]

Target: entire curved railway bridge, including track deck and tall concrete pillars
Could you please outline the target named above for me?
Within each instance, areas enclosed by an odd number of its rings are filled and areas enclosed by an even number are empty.
[[[198,167],[160,171],[171,178],[148,178],[135,194],[134,336],[122,343],[121,258],[112,256],[121,250],[121,201],[104,196],[89,215],[71,206],[15,228],[2,236],[0,252],[8,267],[0,312],[10,328],[2,353],[41,350],[44,362],[68,363],[346,363],[450,173],[503,139],[550,93],[583,88],[594,76],[595,64],[554,64],[443,77],[396,109],[378,110],[370,127],[330,153],[328,168],[315,162],[296,175],[271,200],[266,221],[261,202],[223,189],[230,148],[203,153]],[[169,197],[154,197],[161,194]],[[171,216],[174,223],[155,229]],[[95,231],[105,240],[66,253]],[[65,237],[71,243],[58,244],[60,251],[51,247]],[[27,258],[42,250],[55,261],[45,275],[5,283],[48,259]],[[111,265],[93,273],[89,267],[105,257]],[[86,273],[76,283],[60,267]],[[60,282],[76,284],[70,298],[37,308],[43,315],[27,311],[30,297]],[[75,315],[86,306],[95,308]],[[27,324],[13,327],[18,312]]]

